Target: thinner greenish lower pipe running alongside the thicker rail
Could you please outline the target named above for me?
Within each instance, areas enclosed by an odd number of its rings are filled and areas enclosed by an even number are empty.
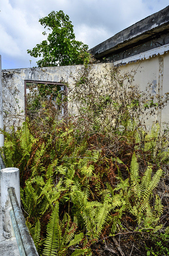
[[[26,256],[22,241],[20,239],[19,229],[18,229],[16,220],[15,220],[15,215],[13,213],[12,208],[9,212],[10,212],[10,216],[11,216],[12,226],[13,226],[13,229],[14,229],[14,232],[15,232],[15,237],[16,237],[17,244],[18,244],[19,253],[20,253],[21,256]]]

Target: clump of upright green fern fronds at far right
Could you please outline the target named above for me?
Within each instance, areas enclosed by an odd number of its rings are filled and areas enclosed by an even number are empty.
[[[162,204],[158,196],[154,205],[151,205],[151,195],[157,187],[159,180],[162,176],[162,170],[158,169],[152,176],[152,168],[149,164],[145,170],[143,177],[139,178],[139,164],[136,159],[135,153],[131,159],[130,165],[130,184],[129,179],[121,180],[121,182],[114,189],[119,190],[122,200],[125,200],[124,206],[121,210],[128,210],[136,216],[139,225],[148,228],[150,225],[156,225],[160,214],[162,213]],[[118,212],[121,212],[121,210]],[[120,215],[121,216],[121,215]],[[145,217],[144,217],[145,216]],[[114,221],[114,220],[113,220]],[[120,225],[119,218],[115,218]],[[155,229],[154,229],[155,230]],[[112,225],[112,232],[115,231],[115,225]]]

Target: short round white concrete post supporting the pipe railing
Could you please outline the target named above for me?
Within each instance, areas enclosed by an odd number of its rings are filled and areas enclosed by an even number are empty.
[[[20,206],[20,179],[19,179],[19,169],[18,168],[4,168],[0,171],[1,179],[1,203],[2,203],[2,218],[3,218],[3,236],[6,238],[11,238],[14,235],[10,209],[11,201],[8,194],[8,188],[14,188],[15,194]]]

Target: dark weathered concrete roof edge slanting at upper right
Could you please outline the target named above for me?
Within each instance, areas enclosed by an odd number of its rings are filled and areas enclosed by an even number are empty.
[[[169,29],[169,5],[88,50],[96,58]]]

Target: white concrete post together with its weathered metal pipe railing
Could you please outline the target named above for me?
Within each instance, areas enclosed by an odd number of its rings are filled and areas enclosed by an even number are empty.
[[[20,208],[19,169],[6,168],[1,154],[0,169],[3,235],[5,238],[16,237],[21,256],[38,256]]]

